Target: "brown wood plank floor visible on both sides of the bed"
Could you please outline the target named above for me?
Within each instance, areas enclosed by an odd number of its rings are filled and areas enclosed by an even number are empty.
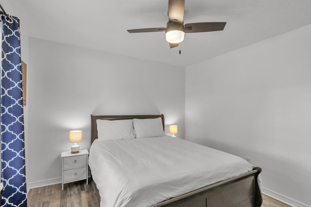
[[[31,189],[28,193],[29,207],[99,207],[93,180],[86,185],[86,181],[78,181],[64,185],[45,186]],[[273,198],[263,195],[261,207],[290,207]]]

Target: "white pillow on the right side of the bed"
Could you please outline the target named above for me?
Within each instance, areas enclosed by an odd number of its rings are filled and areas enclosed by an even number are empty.
[[[161,117],[155,119],[133,119],[136,138],[143,137],[163,137]]]

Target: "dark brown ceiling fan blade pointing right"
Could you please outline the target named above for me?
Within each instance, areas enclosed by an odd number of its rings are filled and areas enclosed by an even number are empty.
[[[222,31],[226,22],[201,22],[185,24],[185,33]]]

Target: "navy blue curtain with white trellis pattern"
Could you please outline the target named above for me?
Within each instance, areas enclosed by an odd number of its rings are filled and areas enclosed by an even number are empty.
[[[3,23],[1,51],[1,207],[27,207],[19,19]]]

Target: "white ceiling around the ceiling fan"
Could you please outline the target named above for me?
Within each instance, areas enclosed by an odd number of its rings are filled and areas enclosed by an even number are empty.
[[[188,66],[311,24],[311,0],[186,0],[184,22],[227,22],[224,31],[188,33],[169,48],[168,0],[8,0],[30,36]],[[5,8],[4,8],[5,9]],[[26,27],[25,27],[26,25]]]

